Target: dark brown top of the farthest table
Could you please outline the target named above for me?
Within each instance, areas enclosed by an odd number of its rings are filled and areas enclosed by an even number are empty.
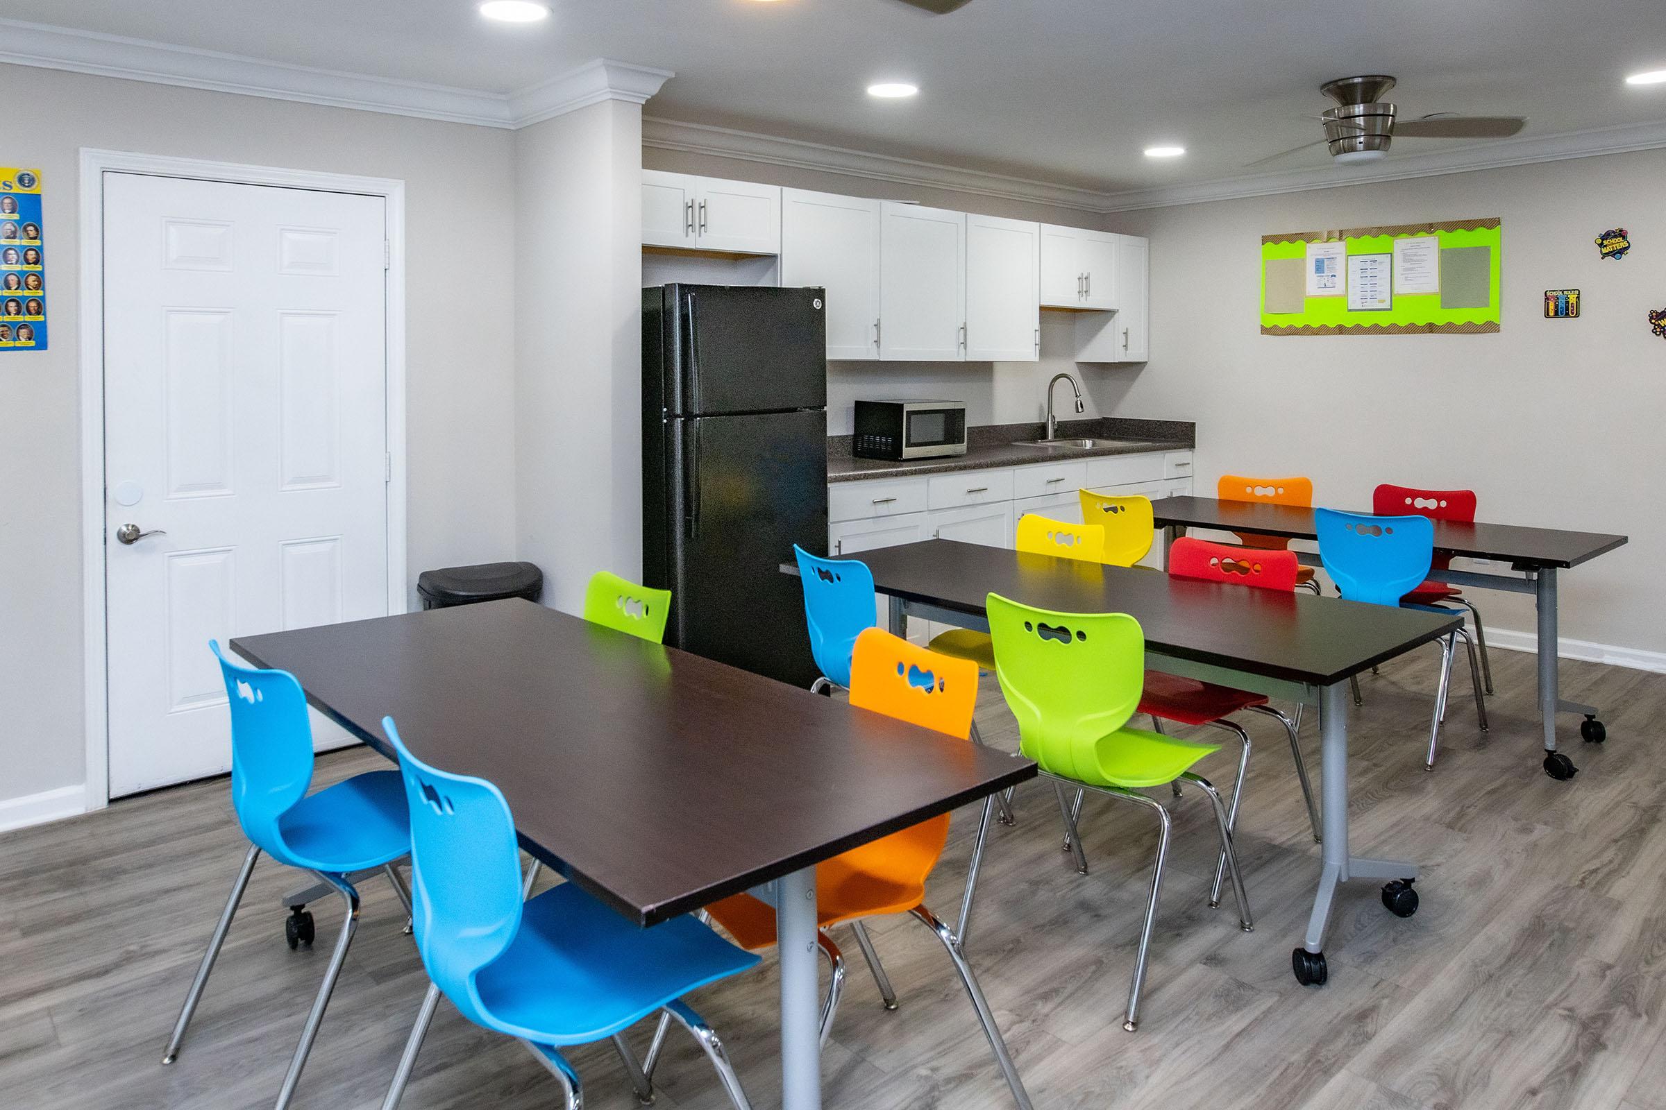
[[[1218,528],[1288,539],[1313,539],[1313,509],[1215,498],[1153,498],[1156,526]],[[1434,521],[1434,549],[1471,559],[1501,559],[1518,566],[1573,567],[1626,543],[1608,533],[1569,533],[1518,524],[1454,524]]]

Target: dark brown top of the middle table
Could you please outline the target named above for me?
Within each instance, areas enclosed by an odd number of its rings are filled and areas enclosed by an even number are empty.
[[[1058,612],[1128,612],[1153,652],[1314,686],[1339,682],[1463,622],[1458,614],[1173,579],[1143,566],[951,539],[863,551],[861,561],[881,594],[973,616],[985,614],[988,594]]]

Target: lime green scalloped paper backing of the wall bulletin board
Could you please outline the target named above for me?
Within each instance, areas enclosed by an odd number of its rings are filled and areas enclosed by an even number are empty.
[[[1459,268],[1473,268],[1474,258],[1484,255],[1484,303],[1476,306],[1443,305],[1441,293],[1394,296],[1388,311],[1348,311],[1344,296],[1308,296],[1296,313],[1271,311],[1278,298],[1271,293],[1274,268],[1279,260],[1306,260],[1309,241],[1343,240],[1349,255],[1384,255],[1394,250],[1396,238],[1434,235],[1441,246],[1443,285],[1448,273],[1446,253],[1464,251]],[[1396,225],[1384,228],[1356,228],[1338,231],[1311,231],[1296,235],[1268,235],[1261,240],[1263,265],[1263,334],[1394,334],[1394,333],[1488,333],[1499,328],[1499,276],[1503,258],[1503,225],[1499,220],[1464,220],[1454,223]],[[1471,285],[1473,288],[1473,285]]]

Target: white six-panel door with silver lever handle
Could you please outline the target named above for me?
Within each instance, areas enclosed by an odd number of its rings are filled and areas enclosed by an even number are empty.
[[[387,216],[380,196],[128,173],[103,206],[118,797],[230,767],[210,637],[388,611]],[[127,544],[125,524],[155,534]]]

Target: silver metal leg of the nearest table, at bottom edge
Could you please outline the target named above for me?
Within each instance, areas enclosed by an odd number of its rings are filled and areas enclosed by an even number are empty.
[[[776,945],[781,954],[781,1107],[821,1110],[816,869],[783,875],[775,892]]]

